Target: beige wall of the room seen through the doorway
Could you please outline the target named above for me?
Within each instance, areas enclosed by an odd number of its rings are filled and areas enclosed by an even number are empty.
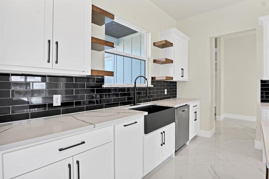
[[[256,34],[225,39],[224,49],[224,113],[256,117]]]

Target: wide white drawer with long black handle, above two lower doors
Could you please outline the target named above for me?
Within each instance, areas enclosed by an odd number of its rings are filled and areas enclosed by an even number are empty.
[[[113,126],[3,154],[4,179],[22,175],[113,141]]]

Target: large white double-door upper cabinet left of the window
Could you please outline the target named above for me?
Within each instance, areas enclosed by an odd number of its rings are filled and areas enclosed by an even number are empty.
[[[90,61],[91,0],[0,1],[0,71],[89,75]]]

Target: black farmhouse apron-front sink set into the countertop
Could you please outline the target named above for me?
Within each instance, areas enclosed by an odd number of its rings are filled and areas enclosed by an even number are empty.
[[[148,112],[148,115],[144,116],[145,134],[148,134],[175,122],[174,107],[148,105],[132,108],[132,110]]]

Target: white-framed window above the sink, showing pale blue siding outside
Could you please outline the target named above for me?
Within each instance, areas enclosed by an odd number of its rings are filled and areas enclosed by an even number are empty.
[[[148,33],[115,18],[106,24],[105,34],[115,47],[105,50],[105,70],[114,71],[113,77],[105,77],[105,84],[134,84],[139,75],[147,78]],[[145,79],[137,79],[137,84],[145,83]]]

